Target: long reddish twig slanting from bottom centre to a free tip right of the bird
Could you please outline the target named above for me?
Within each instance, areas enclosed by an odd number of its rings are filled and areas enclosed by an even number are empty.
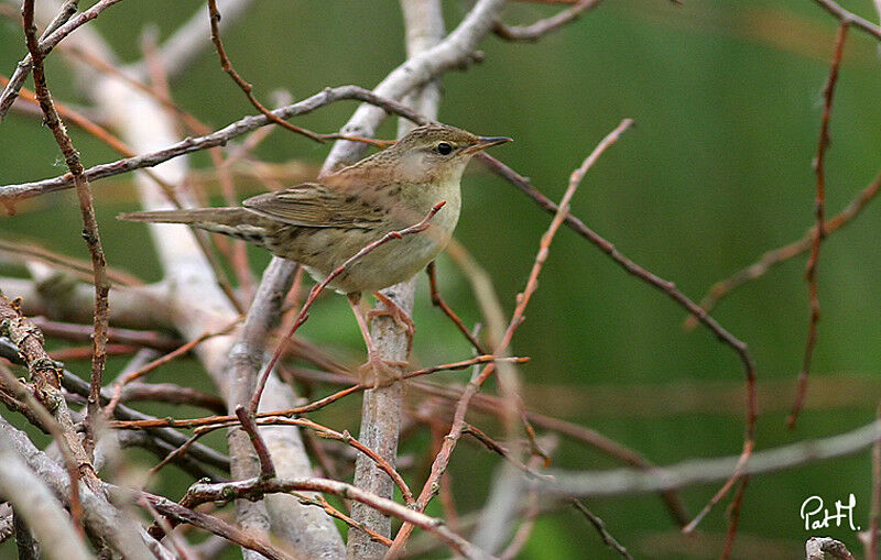
[[[554,235],[558,231],[559,227],[566,219],[566,216],[569,212],[569,201],[572,200],[575,191],[577,190],[578,186],[581,183],[587,171],[594,165],[594,163],[599,158],[600,155],[612,145],[620,135],[628,130],[633,124],[633,121],[630,119],[624,119],[621,123],[616,127],[613,131],[606,135],[605,139],[597,145],[597,147],[590,153],[590,155],[585,158],[584,163],[580,167],[578,167],[575,172],[573,172],[569,178],[569,185],[566,189],[566,193],[563,195],[563,199],[561,200],[559,206],[557,207],[556,212],[554,213],[554,219],[551,221],[551,226],[547,228],[547,231],[542,235],[542,240],[539,244],[539,252],[535,255],[535,261],[533,263],[532,270],[530,271],[529,278],[526,279],[526,287],[523,289],[522,294],[518,294],[516,297],[516,307],[514,308],[514,312],[511,316],[511,320],[508,325],[508,329],[504,332],[504,336],[498,343],[498,348],[496,349],[496,354],[500,354],[504,351],[505,348],[511,343],[511,339],[514,336],[514,331],[522,323],[523,315],[526,310],[526,306],[532,298],[532,295],[539,287],[539,274],[542,272],[542,267],[544,266],[545,261],[550,254],[550,246],[551,242],[554,240]],[[428,505],[428,502],[434,497],[436,494],[436,488],[438,487],[438,480],[446,471],[447,464],[449,464],[449,460],[453,455],[453,450],[456,448],[459,438],[461,437],[463,430],[465,429],[465,415],[468,411],[468,405],[471,402],[471,397],[480,389],[480,387],[486,383],[492,372],[496,370],[493,363],[488,364],[483,370],[477,375],[476,378],[471,380],[468,383],[468,386],[463,392],[459,402],[456,405],[456,413],[454,415],[453,427],[449,430],[449,433],[444,438],[444,444],[440,448],[440,451],[435,457],[434,463],[432,464],[432,472],[428,475],[428,480],[422,487],[422,492],[420,492],[420,497],[417,499],[418,510],[422,512]],[[404,545],[406,543],[407,538],[413,532],[413,526],[409,524],[404,524],[401,529],[398,531],[398,535],[394,537],[394,543],[389,549],[389,554],[394,558],[396,554],[400,554],[403,550]]]

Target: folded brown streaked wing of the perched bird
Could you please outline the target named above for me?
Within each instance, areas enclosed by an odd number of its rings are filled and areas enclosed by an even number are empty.
[[[307,228],[371,228],[380,221],[377,205],[354,189],[303,183],[276,193],[251,197],[242,205],[275,220]]]

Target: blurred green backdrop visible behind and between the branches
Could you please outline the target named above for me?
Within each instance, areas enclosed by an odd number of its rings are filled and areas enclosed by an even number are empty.
[[[144,28],[155,25],[166,37],[198,6],[172,0],[121,2],[96,25],[123,61],[134,61],[140,57]],[[445,2],[448,29],[469,6]],[[844,6],[873,19],[869,0]],[[556,9],[516,3],[509,8],[507,20],[530,22]],[[833,18],[807,0],[684,0],[682,6],[607,0],[535,44],[487,39],[482,64],[444,78],[440,119],[477,133],[515,139],[494,155],[558,199],[568,174],[596,142],[621,119],[633,118],[637,128],[590,171],[572,211],[624,254],[674,281],[697,300],[716,281],[764,251],[801,238],[812,224],[811,162],[836,28]],[[264,100],[275,89],[287,89],[298,99],[326,86],[372,87],[404,57],[400,9],[389,0],[264,0],[225,33],[225,43],[238,70]],[[881,162],[877,47],[874,40],[851,30],[830,128],[830,216],[874,177]],[[24,52],[18,24],[0,21],[0,73],[9,75]],[[86,101],[57,55],[50,61],[48,76],[58,99]],[[173,94],[182,107],[214,128],[253,112],[210,51],[173,84]],[[354,108],[337,103],[296,123],[335,131]],[[117,158],[86,133],[72,132],[86,165]],[[393,133],[390,121],[380,136]],[[327,150],[275,131],[258,155],[265,162],[317,166]],[[209,164],[204,154],[193,162],[198,167]],[[510,311],[550,217],[479,165],[470,171],[464,182],[457,237],[492,274]],[[0,125],[0,183],[62,172],[52,136],[35,118],[13,113]],[[107,257],[112,266],[157,279],[161,274],[145,230],[113,219],[137,207],[128,182],[130,177],[117,177],[94,185]],[[714,312],[749,343],[758,363],[760,449],[837,433],[874,417],[881,397],[874,383],[881,373],[879,228],[881,212],[870,206],[823,248],[818,273],[823,318],[807,409],[795,431],[786,429],[784,419],[807,330],[805,259],[773,270]],[[23,235],[87,259],[79,230],[70,191],[22,205],[19,215],[0,220],[3,237]],[[253,252],[255,270],[267,262],[265,254]],[[8,275],[21,272],[13,266],[0,270]],[[439,272],[448,303],[472,325],[479,314],[468,283],[446,257]],[[468,348],[455,328],[432,308],[425,284],[420,279],[414,360],[433,364],[467,358]],[[589,426],[661,464],[739,452],[740,363],[706,330],[685,331],[683,319],[682,308],[563,229],[513,342],[516,354],[532,358],[521,369],[531,409]],[[327,348],[349,363],[361,358],[360,338],[342,298],[320,300],[302,332],[313,341],[329,341]],[[122,363],[111,362],[110,371]],[[88,370],[85,363],[72,362],[69,367],[84,374]],[[183,371],[192,372],[192,366],[171,367],[154,378],[181,382],[175,373]],[[463,374],[444,378],[461,380]],[[207,387],[204,378],[186,383]],[[320,418],[357,432],[357,407],[352,400]],[[197,411],[174,410],[187,413]],[[486,417],[474,418],[501,436]],[[403,452],[420,458],[425,443],[413,440]],[[470,443],[461,444],[454,457],[450,474],[463,512],[486,501],[499,463],[489,459]],[[614,463],[563,440],[554,465],[584,470]],[[422,483],[414,476],[409,482],[416,487]],[[736,557],[803,558],[804,540],[815,534],[804,530],[798,509],[812,494],[830,505],[853,493],[857,524],[866,527],[870,484],[868,452],[754,477],[742,506]],[[714,484],[684,491],[689,512],[698,512],[717,488]],[[696,537],[683,538],[654,495],[587,503],[637,557],[713,558],[720,550],[725,504],[710,513]],[[818,535],[838,538],[862,553],[847,527]],[[12,549],[0,548],[0,553],[10,554]],[[561,509],[541,518],[521,558],[617,554],[603,548],[578,514]]]

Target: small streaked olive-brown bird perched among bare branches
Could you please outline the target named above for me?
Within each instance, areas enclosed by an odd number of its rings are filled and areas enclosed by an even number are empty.
[[[387,310],[380,314],[391,315],[412,340],[412,319],[379,290],[413,277],[437,256],[459,219],[460,179],[468,162],[478,152],[510,141],[429,123],[352,165],[248,198],[241,207],[141,211],[118,218],[186,223],[241,239],[300,263],[322,282],[366,245],[413,226],[445,202],[428,228],[378,246],[328,284],[347,296],[365,339],[368,362],[359,369],[361,381],[378,386],[402,364],[377,354],[361,295],[372,293],[381,300]]]

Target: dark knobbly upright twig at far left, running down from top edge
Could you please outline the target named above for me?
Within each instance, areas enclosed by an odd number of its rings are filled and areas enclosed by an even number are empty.
[[[108,305],[108,294],[110,292],[110,279],[107,276],[107,262],[101,248],[101,238],[98,233],[98,222],[95,218],[95,206],[91,199],[91,187],[85,176],[85,168],[79,161],[79,152],[74,147],[70,136],[64,128],[64,123],[58,116],[58,111],[52,101],[52,95],[46,86],[46,75],[43,70],[43,51],[36,36],[36,25],[34,25],[34,0],[24,0],[22,7],[22,25],[28,43],[28,51],[31,53],[33,64],[34,91],[40,101],[40,109],[43,111],[46,125],[52,131],[55,142],[58,144],[67,168],[70,169],[76,195],[79,201],[80,213],[83,215],[83,238],[91,254],[91,266],[95,284],[95,338],[94,355],[91,360],[91,389],[89,391],[88,406],[86,410],[86,438],[84,441],[86,452],[91,453],[95,444],[95,422],[100,413],[100,392],[101,376],[107,356],[105,345],[107,344],[107,327],[109,322],[110,308]]]

